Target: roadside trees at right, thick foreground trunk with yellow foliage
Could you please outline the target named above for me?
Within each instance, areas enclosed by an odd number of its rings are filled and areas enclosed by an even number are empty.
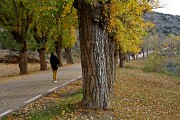
[[[78,12],[83,77],[83,106],[109,108],[115,78],[115,49],[138,52],[150,26],[142,15],[151,0],[75,0]]]

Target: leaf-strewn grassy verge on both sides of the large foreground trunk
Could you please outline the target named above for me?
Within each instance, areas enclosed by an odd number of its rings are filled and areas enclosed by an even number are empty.
[[[82,82],[77,81],[50,96],[6,116],[9,120],[180,119],[180,81],[158,73],[145,73],[143,61],[117,69],[114,92],[107,111],[83,110]]]

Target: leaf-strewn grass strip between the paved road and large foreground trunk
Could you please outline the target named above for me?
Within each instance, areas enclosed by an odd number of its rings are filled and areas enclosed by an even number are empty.
[[[50,120],[72,117],[78,102],[82,100],[81,81],[62,88],[55,93],[30,103],[13,114],[2,118],[18,120]]]

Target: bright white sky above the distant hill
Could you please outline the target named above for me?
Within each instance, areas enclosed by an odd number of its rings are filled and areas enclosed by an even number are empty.
[[[160,0],[160,5],[164,5],[164,7],[154,11],[180,16],[180,0]]]

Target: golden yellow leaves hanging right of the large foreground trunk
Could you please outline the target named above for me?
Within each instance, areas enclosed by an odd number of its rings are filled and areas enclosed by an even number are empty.
[[[138,52],[142,38],[146,35],[146,29],[152,24],[145,22],[143,14],[145,9],[150,9],[147,2],[112,0],[111,19],[108,27],[110,33],[115,33],[123,51]]]

